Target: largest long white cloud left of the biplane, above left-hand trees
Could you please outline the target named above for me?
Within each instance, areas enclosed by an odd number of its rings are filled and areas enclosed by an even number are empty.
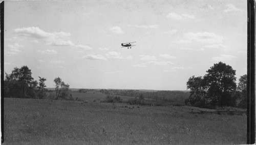
[[[70,38],[70,33],[66,32],[45,32],[39,27],[23,27],[16,28],[14,34],[18,36],[30,37],[35,39],[44,39],[47,45],[54,46],[74,46],[74,44],[68,40]]]

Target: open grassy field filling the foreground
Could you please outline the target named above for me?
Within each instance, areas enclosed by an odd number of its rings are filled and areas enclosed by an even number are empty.
[[[246,144],[246,115],[137,106],[4,99],[4,144]]]

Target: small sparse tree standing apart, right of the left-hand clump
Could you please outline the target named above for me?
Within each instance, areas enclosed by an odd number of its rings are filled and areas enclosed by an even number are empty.
[[[53,81],[55,82],[56,100],[58,100],[59,97],[66,97],[69,84],[65,84],[59,77],[56,77]]]

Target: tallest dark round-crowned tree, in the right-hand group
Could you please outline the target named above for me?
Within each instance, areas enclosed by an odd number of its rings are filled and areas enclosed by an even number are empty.
[[[204,76],[212,105],[232,105],[232,93],[236,91],[236,70],[225,63],[219,62],[210,67]]]

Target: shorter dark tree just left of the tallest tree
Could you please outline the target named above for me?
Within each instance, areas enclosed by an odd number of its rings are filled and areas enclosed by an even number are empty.
[[[202,76],[189,77],[187,81],[187,89],[190,89],[190,96],[188,102],[191,104],[198,103],[198,105],[207,105],[207,85],[205,79]]]

